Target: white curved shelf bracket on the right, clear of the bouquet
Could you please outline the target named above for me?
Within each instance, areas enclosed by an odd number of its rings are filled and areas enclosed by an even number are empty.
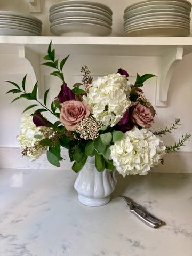
[[[182,60],[182,57],[183,47],[175,47],[172,51],[162,56],[161,76],[157,81],[156,107],[167,106],[167,94],[171,76],[173,74],[174,67],[180,60]]]

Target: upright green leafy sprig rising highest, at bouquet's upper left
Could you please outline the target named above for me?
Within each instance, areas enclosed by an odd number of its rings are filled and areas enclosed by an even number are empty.
[[[47,50],[47,55],[43,58],[44,60],[49,60],[49,62],[43,63],[45,66],[52,67],[56,69],[57,71],[53,71],[50,75],[52,76],[57,76],[61,79],[61,81],[64,83],[64,75],[62,73],[63,66],[65,65],[65,62],[67,61],[69,55],[65,57],[64,59],[61,60],[60,64],[59,59],[55,60],[55,49],[51,49],[52,46],[52,41],[49,44],[48,50]]]

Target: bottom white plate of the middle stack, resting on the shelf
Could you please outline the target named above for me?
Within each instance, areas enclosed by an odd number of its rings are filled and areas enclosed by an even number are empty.
[[[50,31],[57,36],[109,36],[111,29],[90,23],[65,23],[50,26]]]

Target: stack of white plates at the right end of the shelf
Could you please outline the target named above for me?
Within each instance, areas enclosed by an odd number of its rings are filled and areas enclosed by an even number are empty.
[[[191,3],[146,0],[124,11],[124,36],[189,36]]]

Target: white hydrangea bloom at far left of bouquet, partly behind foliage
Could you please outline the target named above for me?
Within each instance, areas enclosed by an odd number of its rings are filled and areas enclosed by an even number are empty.
[[[41,132],[39,132],[39,129],[41,129],[41,127],[36,127],[31,114],[21,117],[20,134],[17,136],[17,141],[21,150],[25,149],[26,147],[34,147],[40,140],[44,138],[43,136],[41,139],[34,138],[35,135],[42,135]],[[30,161],[34,161],[44,152],[45,147],[39,146],[33,150],[33,153],[31,151],[27,151],[27,157]]]

